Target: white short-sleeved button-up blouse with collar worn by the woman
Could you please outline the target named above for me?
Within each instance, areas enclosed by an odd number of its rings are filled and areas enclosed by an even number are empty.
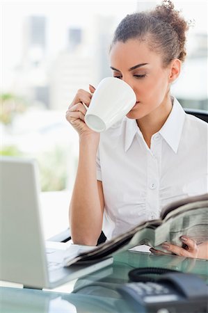
[[[126,117],[101,134],[97,179],[107,239],[159,218],[170,202],[208,192],[207,134],[207,123],[186,114],[175,98],[150,148],[136,120]]]

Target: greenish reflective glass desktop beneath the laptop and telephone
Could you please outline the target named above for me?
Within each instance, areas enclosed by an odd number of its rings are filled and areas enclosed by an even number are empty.
[[[128,273],[136,267],[164,267],[195,273],[208,282],[208,261],[175,255],[152,255],[144,252],[120,252],[111,266],[77,280],[72,293],[1,287],[0,312],[3,313],[74,313],[134,312],[131,304],[117,291],[129,281]],[[143,310],[145,312],[145,310]]]

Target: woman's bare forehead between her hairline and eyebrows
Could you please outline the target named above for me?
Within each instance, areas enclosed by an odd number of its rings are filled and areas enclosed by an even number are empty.
[[[122,65],[130,68],[138,63],[161,63],[161,56],[151,51],[147,40],[130,39],[113,45],[110,61],[115,68],[119,69]]]

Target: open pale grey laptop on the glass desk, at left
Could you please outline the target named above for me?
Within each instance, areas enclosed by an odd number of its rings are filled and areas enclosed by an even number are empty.
[[[65,259],[83,251],[73,244],[65,250],[46,248],[38,175],[35,159],[1,157],[0,280],[52,289],[112,264],[109,257],[94,264],[65,267]]]

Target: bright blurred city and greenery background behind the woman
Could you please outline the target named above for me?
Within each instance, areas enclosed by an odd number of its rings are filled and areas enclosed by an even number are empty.
[[[65,111],[77,89],[111,76],[109,44],[128,13],[160,1],[1,1],[1,154],[38,159],[42,191],[72,190],[78,136]],[[173,1],[193,26],[172,93],[207,109],[207,1]]]

